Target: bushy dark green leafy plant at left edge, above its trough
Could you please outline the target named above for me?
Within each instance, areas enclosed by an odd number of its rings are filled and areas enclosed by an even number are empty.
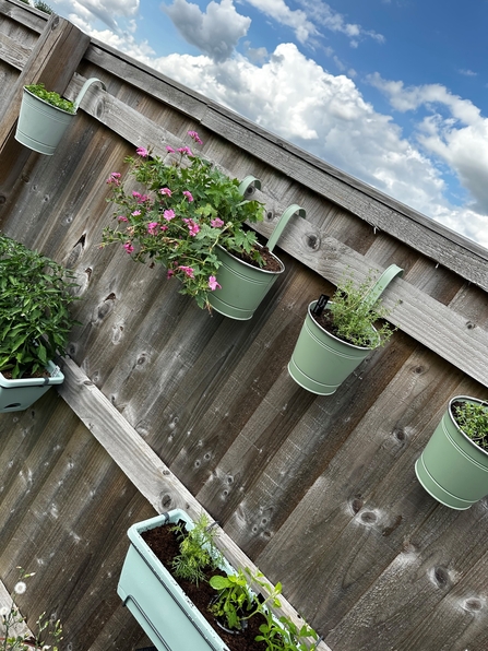
[[[61,264],[0,235],[0,372],[33,375],[64,352],[75,286]]]

